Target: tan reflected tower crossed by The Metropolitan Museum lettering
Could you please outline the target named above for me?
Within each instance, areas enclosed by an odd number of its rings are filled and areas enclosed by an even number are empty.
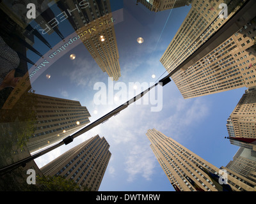
[[[115,27],[109,0],[58,1],[61,10],[72,11],[70,24],[103,72],[113,80],[121,77]]]

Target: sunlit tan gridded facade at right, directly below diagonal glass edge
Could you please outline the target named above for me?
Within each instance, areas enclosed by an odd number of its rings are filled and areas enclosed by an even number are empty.
[[[182,96],[193,98],[256,85],[255,31],[256,25],[249,22],[193,66],[174,73],[172,79]]]

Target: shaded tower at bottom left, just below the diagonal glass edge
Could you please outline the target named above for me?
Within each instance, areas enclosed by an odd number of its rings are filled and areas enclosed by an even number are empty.
[[[40,170],[44,175],[60,175],[74,180],[79,186],[98,191],[109,163],[109,144],[99,135],[86,140],[46,164]]]

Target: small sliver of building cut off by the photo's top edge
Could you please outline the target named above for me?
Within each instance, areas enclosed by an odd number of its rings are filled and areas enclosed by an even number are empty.
[[[141,3],[150,11],[164,11],[181,6],[188,6],[191,0],[137,0],[137,4]]]

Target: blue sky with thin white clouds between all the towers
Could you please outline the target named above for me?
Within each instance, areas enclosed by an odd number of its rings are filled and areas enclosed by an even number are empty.
[[[153,13],[141,4],[136,6],[135,0],[127,0],[124,4],[115,4],[115,9],[122,6],[124,20],[115,24],[122,75],[118,82],[127,85],[129,82],[155,82],[165,72],[159,59],[190,7]],[[54,11],[60,13],[57,8]],[[74,32],[67,22],[60,25],[60,31],[65,36]],[[144,39],[142,44],[137,43],[138,37]],[[47,36],[47,40],[54,44],[60,38],[53,33]],[[43,54],[49,50],[37,40],[35,47],[42,50]],[[69,55],[73,53],[76,59],[70,61]],[[36,55],[30,56],[38,60]],[[45,77],[47,73],[51,74],[50,79]],[[151,77],[152,74],[156,75],[155,79]],[[93,85],[96,82],[108,85],[108,75],[101,71],[84,45],[80,44],[67,50],[59,61],[51,64],[32,87],[37,94],[80,101],[81,105],[88,108],[92,115],[90,121],[93,122],[118,106],[93,103],[93,96],[97,92],[93,90]],[[238,147],[224,139],[227,136],[225,124],[244,90],[183,99],[176,85],[170,82],[163,87],[161,112],[151,112],[152,105],[131,105],[108,122],[75,138],[67,146],[39,157],[36,163],[42,167],[66,150],[99,134],[108,141],[112,154],[99,191],[173,191],[150,149],[150,142],[145,135],[147,130],[156,128],[216,167],[225,166],[238,150]],[[98,113],[93,113],[94,110]]]

